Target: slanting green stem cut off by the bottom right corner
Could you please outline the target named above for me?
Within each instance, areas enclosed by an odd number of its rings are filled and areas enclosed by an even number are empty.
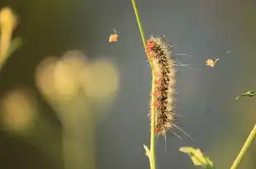
[[[234,163],[230,169],[236,169],[239,167],[239,164],[242,162],[244,158],[244,154],[248,150],[249,145],[253,142],[255,135],[256,135],[256,124],[254,124],[254,129],[252,129],[251,133],[249,134],[249,137],[246,139],[244,143],[243,148],[241,149],[241,151],[239,152],[239,155],[234,160]]]

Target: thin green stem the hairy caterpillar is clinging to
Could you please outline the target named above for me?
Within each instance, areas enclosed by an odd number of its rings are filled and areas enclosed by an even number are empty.
[[[140,35],[142,37],[142,44],[144,46],[144,49],[146,50],[146,38],[144,35],[144,31],[142,29],[142,23],[140,21],[139,18],[139,14],[138,14],[138,7],[136,6],[136,2],[135,0],[132,0],[133,3],[133,10],[136,16],[136,21],[138,23],[138,29],[140,31]],[[152,63],[150,62],[150,58],[147,55],[147,59],[151,65],[152,71],[153,71],[153,66]],[[154,87],[152,85],[152,92],[154,91]],[[154,99],[154,97],[152,97],[152,100]],[[156,169],[156,148],[155,148],[155,123],[156,123],[156,110],[154,106],[151,106],[151,129],[150,129],[150,154],[149,154],[149,162],[150,162],[150,168],[151,169]]]

